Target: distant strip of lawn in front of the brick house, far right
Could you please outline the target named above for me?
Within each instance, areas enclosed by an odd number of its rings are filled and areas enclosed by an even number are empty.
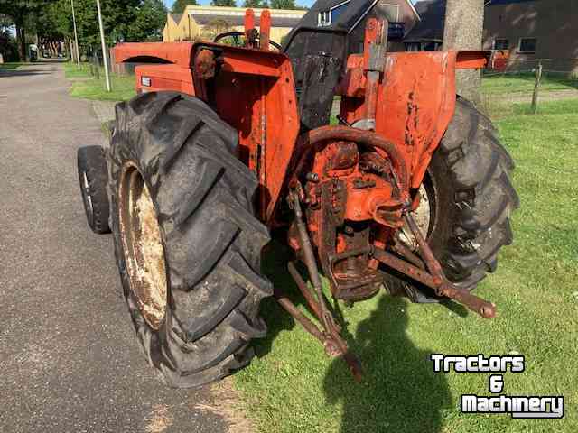
[[[493,75],[482,80],[481,89],[486,95],[532,92],[536,78],[534,74]],[[578,88],[578,78],[565,78],[561,75],[543,75],[540,82],[542,91],[567,90]]]

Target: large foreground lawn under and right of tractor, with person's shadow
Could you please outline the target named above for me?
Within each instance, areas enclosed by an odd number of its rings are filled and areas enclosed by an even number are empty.
[[[340,359],[266,302],[268,336],[235,376],[247,413],[263,432],[578,431],[578,101],[548,102],[539,115],[518,104],[497,122],[517,162],[521,208],[515,243],[477,293],[496,302],[484,320],[455,304],[417,305],[383,294],[345,309],[350,347],[363,362],[362,383]],[[277,245],[266,253],[276,286],[301,302]],[[565,397],[558,420],[465,415],[463,393],[489,395],[487,373],[433,373],[432,353],[526,356],[524,373],[505,374],[510,395]]]

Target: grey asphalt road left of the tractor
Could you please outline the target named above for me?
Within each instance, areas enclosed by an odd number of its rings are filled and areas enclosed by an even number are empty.
[[[209,389],[166,388],[136,344],[76,149],[103,134],[56,63],[0,72],[0,432],[219,432]]]

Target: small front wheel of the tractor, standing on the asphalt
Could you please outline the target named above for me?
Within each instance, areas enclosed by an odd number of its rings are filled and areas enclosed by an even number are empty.
[[[85,146],[77,151],[80,194],[87,222],[94,233],[110,233],[108,226],[107,158],[101,146]]]

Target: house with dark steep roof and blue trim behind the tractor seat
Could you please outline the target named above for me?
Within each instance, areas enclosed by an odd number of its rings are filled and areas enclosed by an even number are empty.
[[[349,33],[349,52],[363,51],[370,17],[389,21],[388,49],[403,51],[403,39],[420,20],[410,0],[318,0],[303,16],[303,27],[326,27]]]

